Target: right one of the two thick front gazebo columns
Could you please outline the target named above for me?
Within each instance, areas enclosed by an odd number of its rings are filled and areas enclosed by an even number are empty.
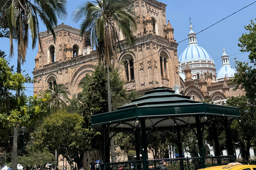
[[[205,159],[204,159],[204,147],[203,147],[203,134],[201,131],[201,122],[200,122],[200,117],[196,116],[196,137],[198,141],[198,148],[199,148],[199,155],[202,157],[202,165],[201,168],[205,167]]]

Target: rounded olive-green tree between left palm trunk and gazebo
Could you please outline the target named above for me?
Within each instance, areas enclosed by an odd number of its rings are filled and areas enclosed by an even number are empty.
[[[44,119],[38,130],[33,134],[35,149],[58,153],[67,158],[69,165],[77,163],[82,167],[84,151],[91,145],[91,137],[99,135],[91,129],[82,128],[83,117],[76,113],[58,111]]]

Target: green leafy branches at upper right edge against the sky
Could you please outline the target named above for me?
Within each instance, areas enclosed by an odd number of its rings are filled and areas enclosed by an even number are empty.
[[[238,44],[241,47],[241,52],[250,52],[249,59],[252,63],[256,62],[256,24],[251,20],[251,24],[246,25],[244,27],[248,33],[243,33],[242,37],[238,40],[240,43]]]

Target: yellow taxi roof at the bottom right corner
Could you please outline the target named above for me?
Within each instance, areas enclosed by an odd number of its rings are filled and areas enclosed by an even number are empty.
[[[240,163],[230,163],[228,165],[212,166],[198,170],[256,170],[256,165],[242,165]]]

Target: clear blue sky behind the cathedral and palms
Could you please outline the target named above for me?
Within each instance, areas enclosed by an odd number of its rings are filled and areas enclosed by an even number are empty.
[[[67,0],[68,17],[65,20],[59,20],[59,24],[65,23],[74,28],[79,28],[79,22],[75,23],[72,19],[73,11],[82,5],[86,1]],[[230,14],[241,10],[243,7],[253,3],[252,0],[194,0],[194,1],[173,1],[173,0],[159,0],[166,4],[166,20],[170,20],[170,23],[174,29],[174,39],[179,43],[180,41],[188,38],[189,33],[189,18],[193,25],[193,31],[199,32],[210,25],[226,18]],[[223,47],[226,49],[226,53],[229,55],[229,61],[231,66],[234,66],[234,58],[239,61],[249,62],[248,53],[239,52],[238,39],[246,32],[244,26],[250,24],[250,20],[256,18],[256,3],[244,8],[243,10],[229,16],[229,18],[213,25],[209,29],[196,35],[197,44],[203,47],[213,58],[215,62],[215,69],[217,71],[221,68],[221,55],[223,54]],[[45,31],[46,28],[43,24],[40,25],[39,31]],[[0,39],[0,49],[9,56],[10,41],[7,38]],[[188,40],[182,41],[178,45],[178,57],[182,51],[187,48]],[[14,56],[10,60],[10,65],[17,67],[17,43],[14,42]],[[21,65],[21,69],[25,70],[23,74],[29,74],[33,78],[31,73],[35,67],[35,57],[37,55],[38,46],[33,50],[31,47],[31,40],[29,49],[27,50],[26,63]],[[26,95],[33,95],[33,84],[26,84]]]

